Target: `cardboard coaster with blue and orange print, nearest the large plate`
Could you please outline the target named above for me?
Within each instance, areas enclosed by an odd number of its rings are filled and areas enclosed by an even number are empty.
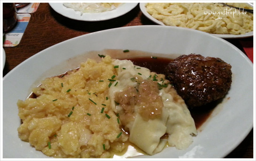
[[[17,46],[20,43],[30,17],[30,14],[17,14],[18,22],[13,30],[5,34],[4,47]]]

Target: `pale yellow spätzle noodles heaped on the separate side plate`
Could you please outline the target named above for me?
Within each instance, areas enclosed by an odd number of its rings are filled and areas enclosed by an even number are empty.
[[[246,4],[233,5],[245,7]],[[211,34],[240,35],[253,30],[252,14],[219,3],[147,3],[145,7],[152,17],[167,26]]]

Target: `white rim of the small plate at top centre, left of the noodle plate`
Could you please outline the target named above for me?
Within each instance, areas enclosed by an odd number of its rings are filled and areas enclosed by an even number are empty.
[[[101,13],[84,13],[83,15],[81,15],[79,11],[75,11],[72,8],[67,8],[63,5],[63,3],[49,3],[49,5],[57,13],[65,17],[68,17],[74,20],[80,20],[80,21],[103,21],[103,20],[116,18],[118,16],[128,13],[134,7],[136,7],[137,4],[138,3],[124,3],[112,11],[101,12]]]

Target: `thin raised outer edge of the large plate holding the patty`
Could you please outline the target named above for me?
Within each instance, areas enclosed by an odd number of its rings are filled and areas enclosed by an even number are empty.
[[[182,29],[182,28],[175,28],[175,27],[166,27],[166,26],[131,26],[131,27],[125,27],[125,28],[117,28],[117,29],[107,29],[107,30],[104,30],[104,31],[99,31],[99,32],[95,32],[95,33],[91,33],[91,34],[86,34],[86,35],[83,35],[83,36],[80,36],[80,37],[75,37],[75,38],[72,38],[72,39],[69,39],[69,40],[66,40],[66,41],[63,41],[62,43],[59,43],[59,44],[56,44],[56,45],[53,45],[43,51],[40,51],[39,53],[35,54],[34,56],[32,56],[31,58],[25,60],[23,63],[21,63],[20,65],[16,66],[11,72],[9,72],[4,78],[3,78],[3,83],[6,83],[6,81],[8,81],[8,77],[12,75],[12,73],[14,73],[16,70],[18,70],[20,67],[22,67],[25,63],[28,63],[30,62],[32,59],[38,59],[37,57],[39,56],[42,56],[43,53],[47,52],[47,50],[52,50],[54,47],[57,47],[58,45],[63,45],[63,44],[66,44],[66,43],[69,43],[70,41],[75,41],[76,39],[83,39],[85,37],[89,37],[89,36],[94,36],[94,35],[97,35],[97,34],[101,34],[101,33],[106,33],[106,32],[113,32],[114,30],[117,30],[117,31],[124,31],[124,30],[129,30],[129,29],[136,29],[136,28],[139,28],[139,29],[147,29],[147,28],[154,28],[157,27],[157,29],[172,29],[172,30],[182,30],[182,31],[190,31],[190,32],[194,32],[194,33],[197,33],[197,34],[202,34],[204,36],[207,36],[207,37],[212,37],[210,34],[207,34],[207,33],[203,33],[201,31],[197,31],[197,30],[193,30],[193,29]],[[246,57],[244,56],[244,54],[242,53],[242,51],[240,51],[237,47],[233,46],[232,44],[226,42],[225,40],[223,39],[220,39],[218,37],[214,37],[215,39],[217,39],[218,41],[221,41],[221,42],[224,42],[226,44],[228,44],[229,46],[231,46],[235,51],[237,51],[240,56],[243,57],[243,59],[245,59],[245,61],[247,61],[248,65],[250,66],[250,68],[252,68],[252,63],[251,61]],[[5,81],[6,80],[6,81]],[[225,153],[221,154],[221,156],[218,156],[218,157],[224,157],[226,154],[228,154],[229,152],[231,152],[236,146],[238,146],[240,144],[240,142],[247,136],[247,134],[250,132],[251,128],[253,127],[253,123],[250,123],[248,125],[248,127],[246,128],[247,130],[245,130],[244,132],[241,133],[241,138],[239,141],[236,141],[234,144],[233,144],[233,147],[232,148],[229,148],[228,151],[225,151]],[[164,149],[166,150],[166,149]],[[192,149],[193,150],[193,149]],[[158,155],[157,155],[158,156]]]

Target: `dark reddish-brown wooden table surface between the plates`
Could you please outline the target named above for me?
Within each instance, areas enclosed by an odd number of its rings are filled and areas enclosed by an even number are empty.
[[[3,76],[25,59],[64,40],[94,31],[136,25],[155,25],[141,13],[139,5],[129,13],[112,20],[83,22],[72,20],[56,13],[48,3],[40,3],[38,10],[31,13],[30,22],[20,44],[15,47],[4,47],[6,64]],[[243,51],[240,41],[252,42],[253,38],[228,41]],[[253,130],[251,130],[240,145],[228,154],[226,158],[253,158],[253,152]]]

